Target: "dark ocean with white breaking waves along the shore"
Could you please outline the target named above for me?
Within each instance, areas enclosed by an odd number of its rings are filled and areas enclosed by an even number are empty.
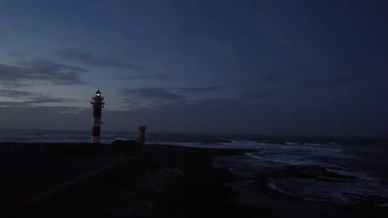
[[[135,140],[136,132],[106,132],[102,143]],[[2,142],[90,142],[90,131],[1,130]],[[388,139],[274,135],[147,133],[146,144],[253,149],[216,157],[213,165],[311,201],[372,202],[388,208]]]

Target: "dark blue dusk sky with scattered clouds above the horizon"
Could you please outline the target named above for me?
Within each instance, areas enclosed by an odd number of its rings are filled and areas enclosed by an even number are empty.
[[[388,130],[388,2],[0,1],[0,128]]]

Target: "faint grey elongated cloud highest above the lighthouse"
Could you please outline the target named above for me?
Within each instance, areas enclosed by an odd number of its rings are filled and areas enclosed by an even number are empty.
[[[79,62],[92,66],[99,67],[118,67],[123,69],[131,69],[134,71],[144,72],[145,69],[141,66],[130,64],[128,60],[121,58],[128,57],[125,52],[113,53],[107,56],[97,56],[91,53],[86,53],[77,49],[55,50],[54,54],[64,61]],[[121,55],[120,55],[121,54]],[[121,57],[121,58],[120,58]]]

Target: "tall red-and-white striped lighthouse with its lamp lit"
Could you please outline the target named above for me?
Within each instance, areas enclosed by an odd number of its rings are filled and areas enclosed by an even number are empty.
[[[90,104],[93,107],[92,119],[92,143],[100,143],[100,126],[101,126],[101,109],[104,107],[104,96],[101,95],[98,89],[95,95],[92,96]]]

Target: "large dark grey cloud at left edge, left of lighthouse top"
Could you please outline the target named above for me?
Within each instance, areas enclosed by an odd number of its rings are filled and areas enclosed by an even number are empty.
[[[80,79],[80,74],[85,72],[88,70],[81,67],[36,59],[19,61],[15,65],[0,64],[0,81],[43,80],[54,85],[80,85],[85,84]]]

